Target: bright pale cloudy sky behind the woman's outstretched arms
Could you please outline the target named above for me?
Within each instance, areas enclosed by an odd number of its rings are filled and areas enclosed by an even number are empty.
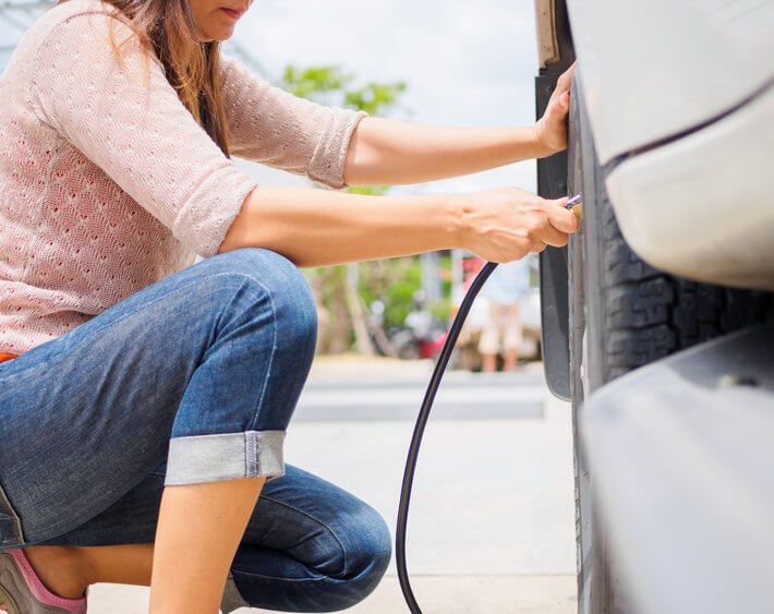
[[[255,0],[234,40],[273,82],[288,63],[339,64],[354,73],[355,83],[406,81],[401,107],[390,115],[396,119],[506,128],[534,121],[533,15],[532,0]],[[17,28],[0,21],[0,47],[17,36]],[[0,52],[0,69],[5,59]],[[265,183],[311,185],[281,170],[238,164]],[[534,162],[399,185],[390,193],[499,186],[534,191]]]

